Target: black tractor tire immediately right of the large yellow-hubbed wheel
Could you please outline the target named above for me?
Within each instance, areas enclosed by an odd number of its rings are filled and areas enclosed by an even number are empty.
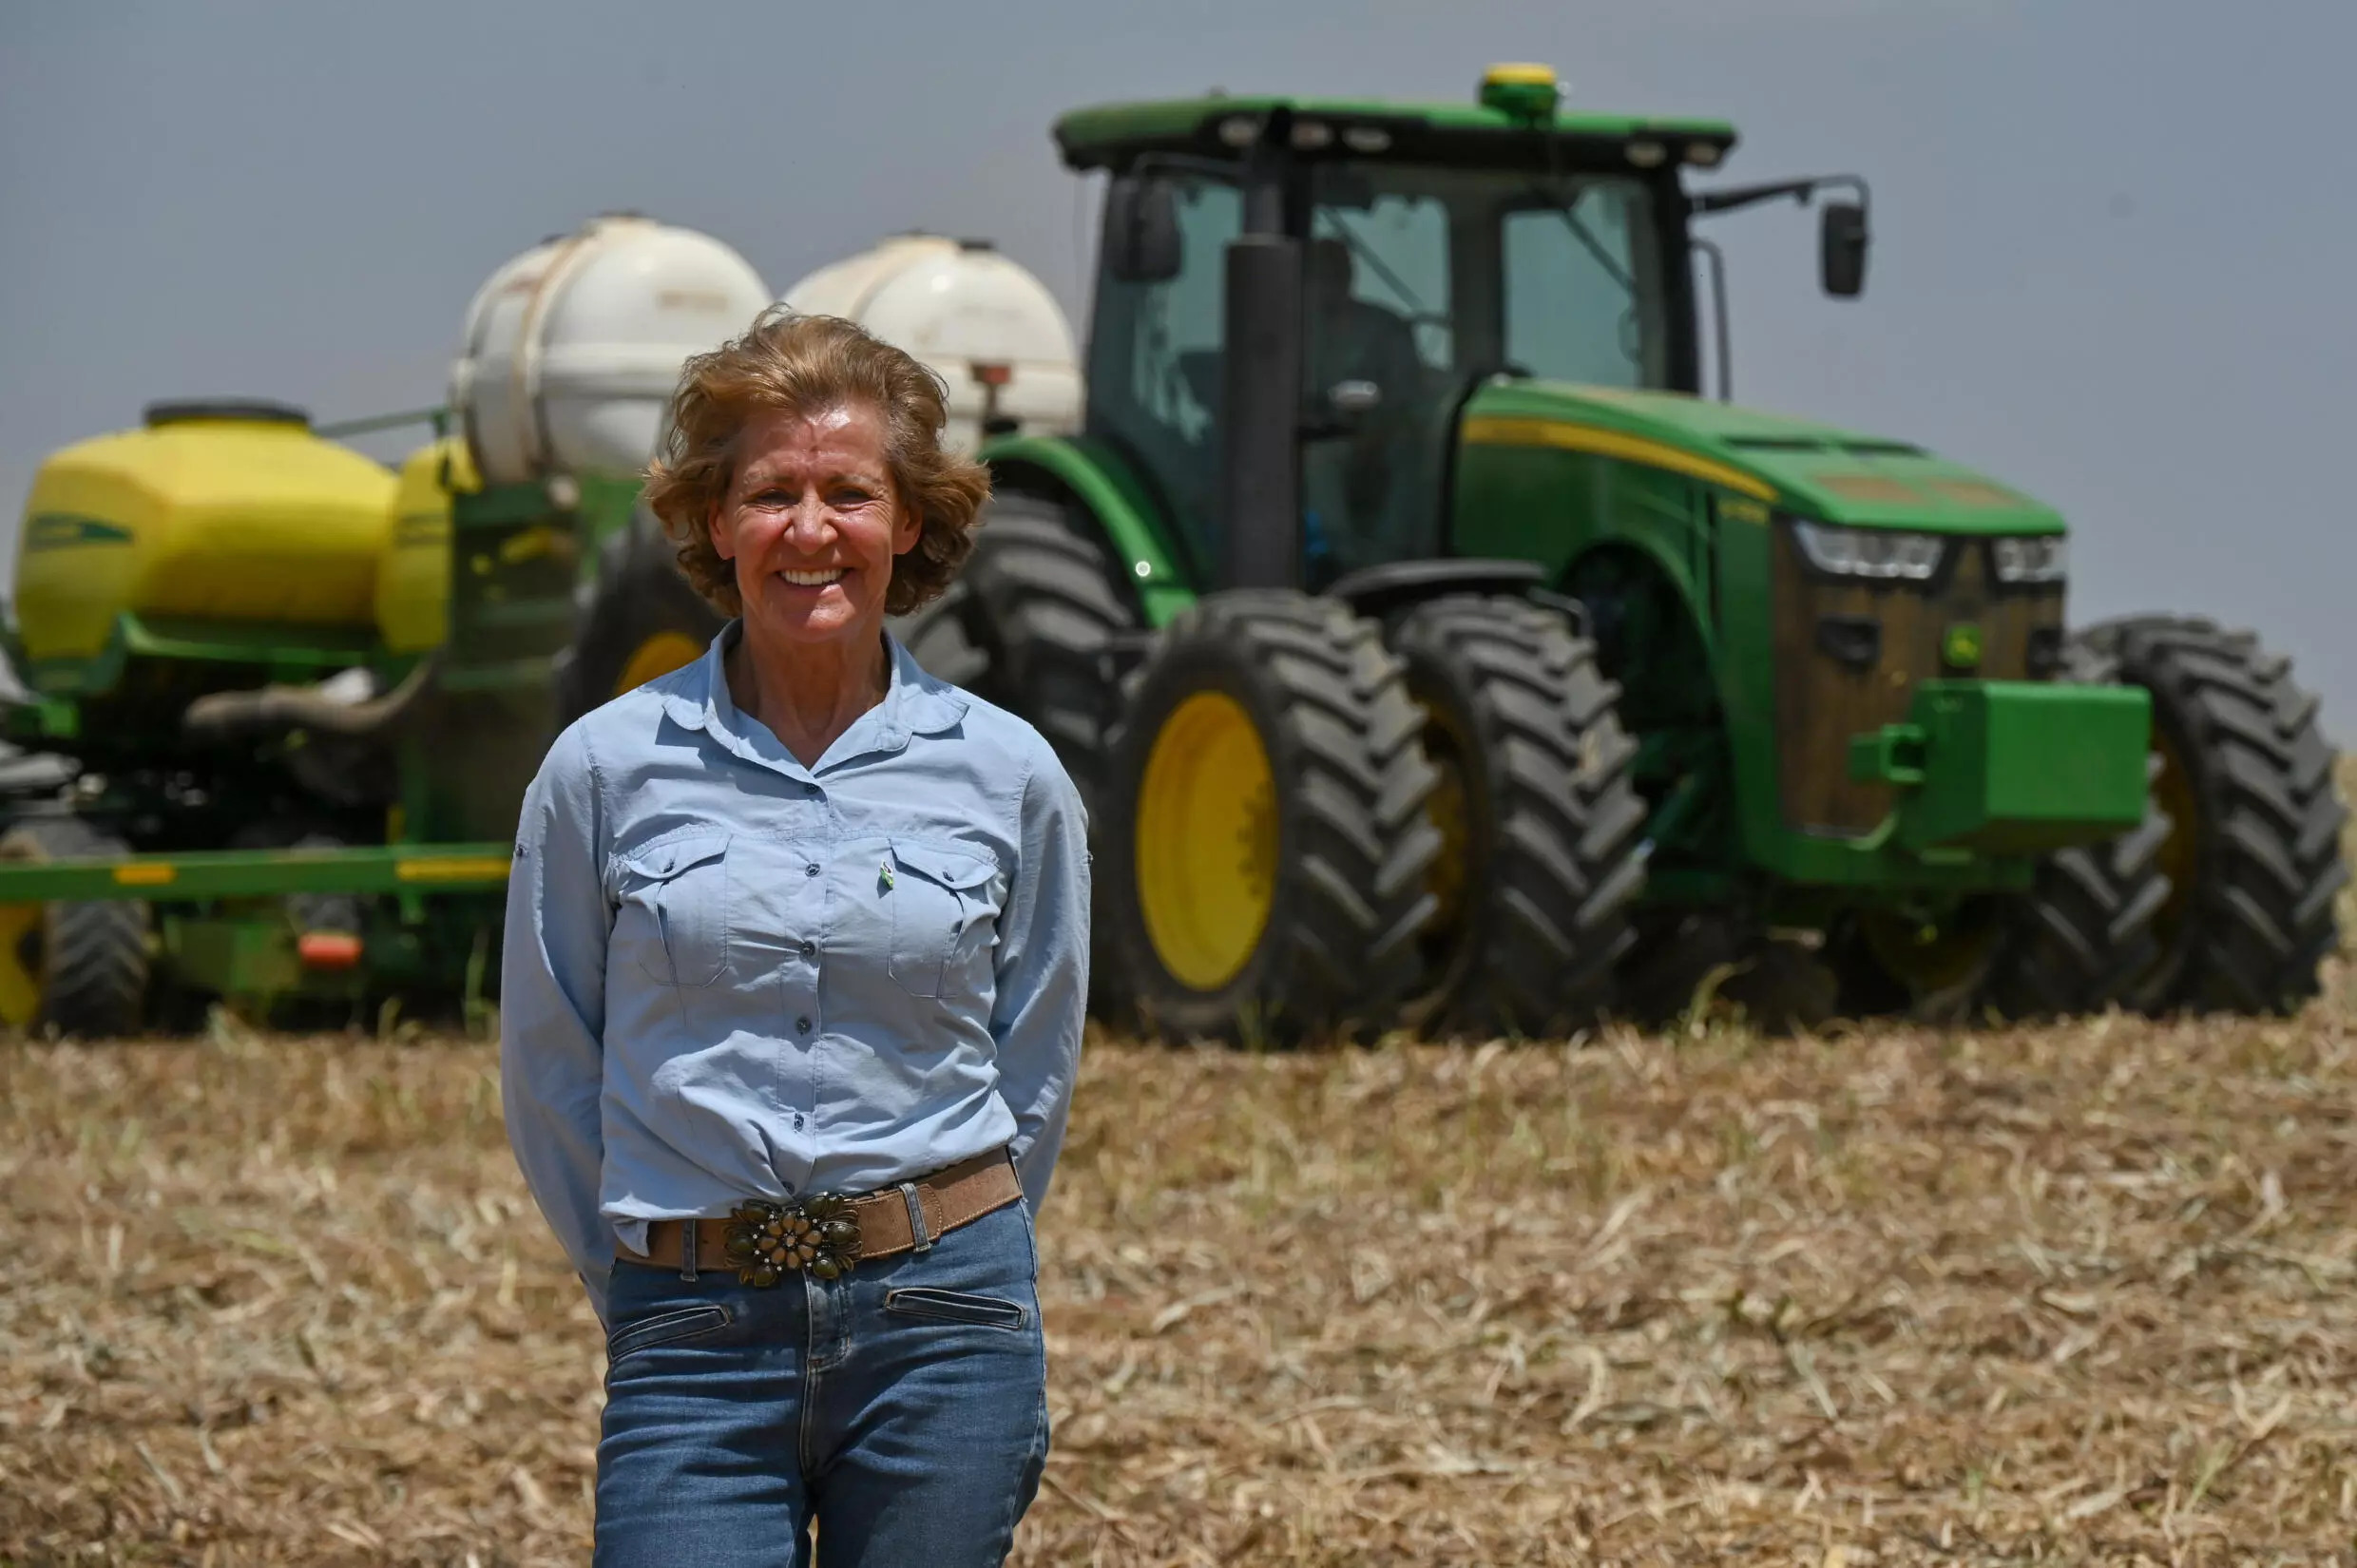
[[[1645,887],[1645,802],[1619,686],[1527,599],[1447,597],[1391,634],[1440,769],[1424,1028],[1560,1035],[1603,1021]]]

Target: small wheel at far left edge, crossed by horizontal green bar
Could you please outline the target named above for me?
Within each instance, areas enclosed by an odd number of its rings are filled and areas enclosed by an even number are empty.
[[[71,816],[33,816],[0,835],[0,863],[125,854],[130,844]],[[146,903],[0,903],[0,1021],[82,1040],[130,1035],[139,1028],[146,986]]]

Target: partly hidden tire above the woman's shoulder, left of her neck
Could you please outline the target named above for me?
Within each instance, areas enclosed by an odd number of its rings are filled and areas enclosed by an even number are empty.
[[[606,545],[596,589],[556,672],[559,724],[702,658],[726,625],[679,571],[651,514]]]

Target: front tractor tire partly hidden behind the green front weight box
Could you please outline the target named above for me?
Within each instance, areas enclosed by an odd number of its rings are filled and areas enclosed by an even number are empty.
[[[2112,686],[2121,667],[2074,637],[2060,679]],[[2001,905],[1982,1002],[2015,1021],[2133,1004],[2140,976],[2161,953],[2154,922],[2168,901],[2161,868],[2168,832],[2168,818],[2147,804],[2145,821],[2117,839],[2046,856],[2029,891]]]

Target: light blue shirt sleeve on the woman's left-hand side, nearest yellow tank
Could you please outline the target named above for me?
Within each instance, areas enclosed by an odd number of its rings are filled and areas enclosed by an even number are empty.
[[[500,1099],[523,1181],[606,1320],[613,1231],[599,1214],[606,938],[603,811],[580,726],[523,797],[500,950]]]

